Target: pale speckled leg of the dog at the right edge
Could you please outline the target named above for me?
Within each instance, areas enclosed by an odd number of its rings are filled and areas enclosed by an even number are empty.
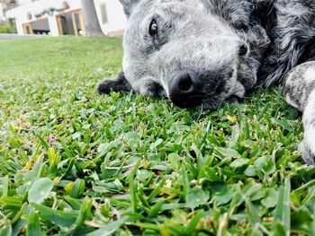
[[[315,61],[296,66],[284,80],[285,100],[303,112],[302,158],[315,164]]]

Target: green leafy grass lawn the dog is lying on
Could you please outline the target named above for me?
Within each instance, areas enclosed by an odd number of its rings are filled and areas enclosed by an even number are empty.
[[[0,41],[0,235],[314,235],[281,88],[214,111],[95,86],[120,39]]]

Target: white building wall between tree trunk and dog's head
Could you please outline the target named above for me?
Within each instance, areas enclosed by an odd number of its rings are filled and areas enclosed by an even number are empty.
[[[94,0],[97,17],[101,24],[102,31],[105,35],[114,34],[123,31],[126,27],[127,18],[123,13],[122,5],[119,0]],[[103,23],[101,4],[106,5],[108,22]]]

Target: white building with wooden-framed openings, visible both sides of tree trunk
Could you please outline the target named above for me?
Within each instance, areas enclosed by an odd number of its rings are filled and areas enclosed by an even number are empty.
[[[119,0],[91,0],[105,35],[121,34],[126,17]],[[14,0],[6,12],[18,34],[85,35],[81,0]]]

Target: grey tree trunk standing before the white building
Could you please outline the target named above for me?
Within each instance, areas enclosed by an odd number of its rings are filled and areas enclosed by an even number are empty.
[[[83,17],[85,19],[85,34],[88,37],[103,36],[103,31],[98,22],[93,0],[81,0]]]

